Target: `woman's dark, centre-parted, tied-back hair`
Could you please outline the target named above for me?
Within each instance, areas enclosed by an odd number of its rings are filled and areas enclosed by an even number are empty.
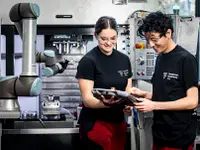
[[[103,16],[100,17],[95,25],[95,33],[98,35],[103,29],[111,28],[118,31],[118,25],[116,20],[113,17]]]

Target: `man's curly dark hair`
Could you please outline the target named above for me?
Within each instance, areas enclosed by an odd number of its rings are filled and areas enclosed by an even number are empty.
[[[173,29],[173,20],[169,15],[163,14],[160,11],[150,13],[143,19],[143,23],[138,28],[137,34],[144,37],[146,32],[158,32],[161,36],[165,36],[168,29]]]

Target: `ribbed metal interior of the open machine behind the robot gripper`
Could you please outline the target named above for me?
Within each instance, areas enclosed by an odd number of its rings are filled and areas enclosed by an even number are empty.
[[[76,68],[79,60],[86,54],[87,43],[93,41],[93,35],[89,33],[63,33],[47,35],[45,37],[45,49],[53,50],[56,54],[57,60],[70,60],[68,62],[68,69],[62,74],[58,74],[52,78],[42,75],[42,96],[41,101],[41,117],[45,116],[51,118],[50,114],[58,116],[58,104],[62,110],[65,111],[66,116],[72,117],[76,106],[81,103],[81,96],[78,81],[75,78]],[[50,100],[49,96],[55,95],[55,100]],[[59,100],[57,97],[59,96]],[[57,105],[57,106],[56,106]],[[48,107],[48,108],[47,108]],[[54,109],[54,111],[52,111]]]

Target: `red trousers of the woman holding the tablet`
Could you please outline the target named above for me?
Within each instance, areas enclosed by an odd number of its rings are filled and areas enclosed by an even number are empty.
[[[88,138],[103,150],[124,150],[126,144],[126,123],[119,124],[96,121]]]

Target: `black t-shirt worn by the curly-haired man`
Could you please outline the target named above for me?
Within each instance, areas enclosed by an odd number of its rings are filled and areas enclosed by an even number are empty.
[[[166,54],[158,55],[152,78],[153,101],[174,101],[186,96],[186,91],[198,83],[197,61],[177,45]],[[156,144],[184,148],[196,137],[195,110],[155,110],[153,138]]]

